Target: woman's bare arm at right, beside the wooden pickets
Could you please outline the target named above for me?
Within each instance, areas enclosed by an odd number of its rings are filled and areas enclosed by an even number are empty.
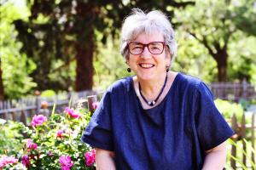
[[[207,150],[202,170],[222,170],[226,161],[226,154],[227,150],[225,141],[212,150]]]

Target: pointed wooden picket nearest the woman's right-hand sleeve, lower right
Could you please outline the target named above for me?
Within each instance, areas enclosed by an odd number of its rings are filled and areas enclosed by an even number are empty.
[[[238,129],[238,124],[237,124],[237,119],[236,119],[236,115],[233,114],[232,119],[231,119],[231,127],[232,129],[235,131],[235,134],[233,135],[232,140],[236,143],[237,140],[237,129]],[[236,146],[232,144],[231,147],[231,155],[236,157]],[[230,165],[233,169],[236,169],[236,161],[234,159],[230,159]]]

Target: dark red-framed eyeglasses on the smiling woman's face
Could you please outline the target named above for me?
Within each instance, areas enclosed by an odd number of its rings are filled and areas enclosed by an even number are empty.
[[[142,54],[144,48],[147,47],[148,51],[151,54],[162,54],[164,51],[166,43],[165,42],[150,42],[148,44],[144,44],[141,42],[129,42],[128,50],[131,54],[138,55]]]

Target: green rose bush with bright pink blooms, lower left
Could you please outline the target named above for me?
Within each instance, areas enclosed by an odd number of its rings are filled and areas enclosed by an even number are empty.
[[[53,110],[48,120],[33,116],[32,129],[24,131],[27,138],[22,140],[22,150],[12,154],[19,163],[3,169],[20,166],[20,162],[27,169],[95,169],[95,151],[80,140],[89,120],[90,112],[80,107],[66,108],[62,114]]]

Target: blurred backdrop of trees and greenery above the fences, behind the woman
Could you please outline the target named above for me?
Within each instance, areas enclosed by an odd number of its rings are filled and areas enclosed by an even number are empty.
[[[105,90],[129,76],[119,53],[131,8],[160,9],[177,34],[172,67],[211,82],[256,84],[255,0],[1,0],[0,99],[35,90]],[[49,92],[50,90],[50,92]]]

